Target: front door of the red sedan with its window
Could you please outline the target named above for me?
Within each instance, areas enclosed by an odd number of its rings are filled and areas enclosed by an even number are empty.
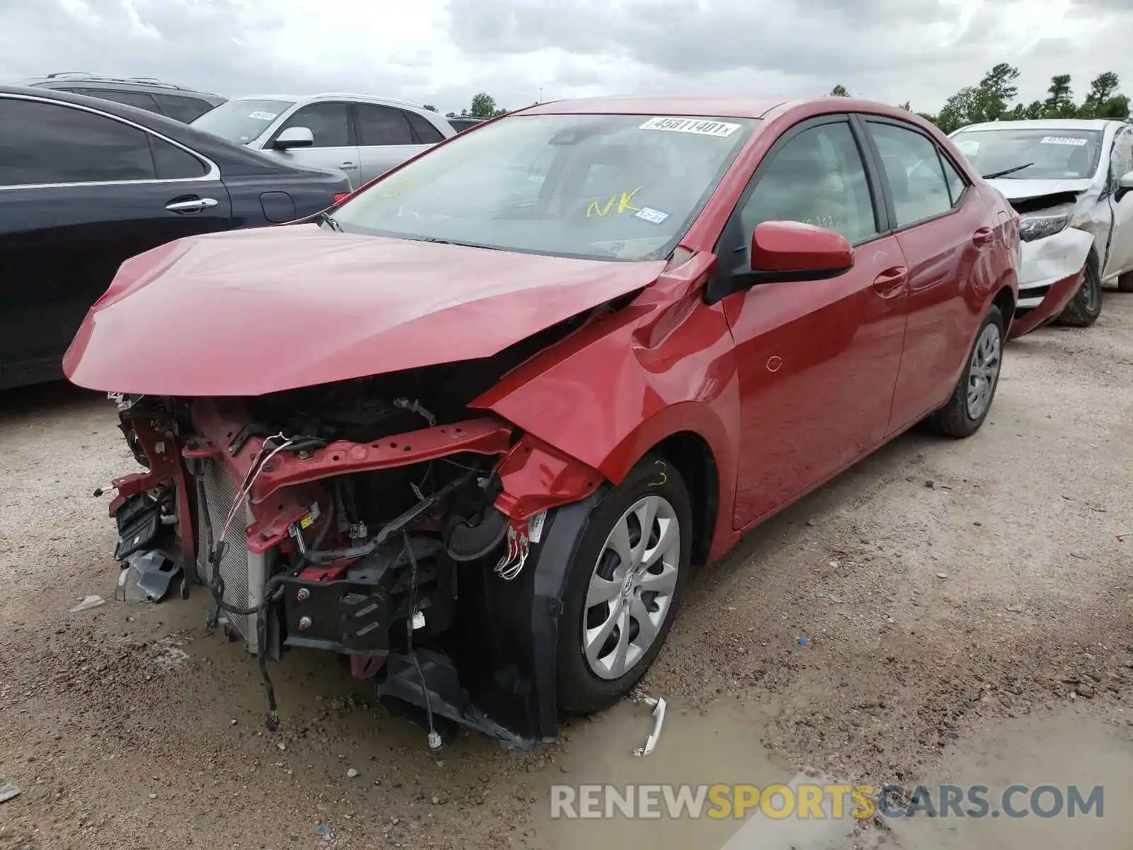
[[[721,239],[725,267],[756,224],[841,232],[854,267],[830,280],[772,282],[724,300],[740,375],[736,528],[830,478],[885,437],[905,326],[905,261],[881,236],[876,179],[845,116],[808,121],[770,150]],[[746,260],[742,262],[747,262]]]

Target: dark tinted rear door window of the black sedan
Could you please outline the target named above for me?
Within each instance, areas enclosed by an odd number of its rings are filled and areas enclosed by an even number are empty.
[[[95,112],[0,99],[0,186],[153,180],[145,133]]]

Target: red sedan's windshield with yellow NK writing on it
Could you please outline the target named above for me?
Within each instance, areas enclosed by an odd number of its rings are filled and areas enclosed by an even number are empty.
[[[667,256],[759,122],[512,116],[335,211],[347,232],[602,260]]]

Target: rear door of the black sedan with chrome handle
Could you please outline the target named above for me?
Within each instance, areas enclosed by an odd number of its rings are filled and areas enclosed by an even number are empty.
[[[11,385],[58,376],[123,260],[227,229],[231,205],[213,163],[109,114],[0,96],[0,385]]]

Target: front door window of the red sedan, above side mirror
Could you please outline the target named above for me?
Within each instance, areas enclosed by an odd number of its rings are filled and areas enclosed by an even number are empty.
[[[845,121],[811,127],[772,154],[740,211],[750,244],[765,221],[801,221],[862,243],[878,232],[866,167]]]

